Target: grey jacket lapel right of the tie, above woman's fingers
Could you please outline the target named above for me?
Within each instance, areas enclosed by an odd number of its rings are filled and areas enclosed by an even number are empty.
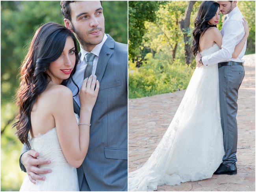
[[[112,39],[112,37],[110,37],[110,35],[108,35],[108,39],[105,41],[105,43],[103,44],[103,46],[100,50],[100,55],[98,58],[97,68],[96,68],[96,72],[95,72],[95,75],[97,76],[97,79],[99,82],[101,81],[101,79],[104,75],[106,66],[108,64],[108,60],[114,52],[112,50],[112,48],[114,48],[114,46],[115,46],[114,39]]]

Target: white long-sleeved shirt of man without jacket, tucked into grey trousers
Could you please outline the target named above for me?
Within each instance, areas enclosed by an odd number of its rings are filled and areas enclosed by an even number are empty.
[[[236,45],[245,35],[242,19],[243,15],[238,7],[235,7],[226,17],[227,19],[221,29],[223,36],[221,50],[202,57],[204,66],[214,65],[224,61],[244,62],[242,57],[245,55],[247,41],[238,57],[236,59],[232,58]]]

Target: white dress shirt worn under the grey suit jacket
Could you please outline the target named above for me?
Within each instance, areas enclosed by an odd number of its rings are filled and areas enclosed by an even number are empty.
[[[93,48],[93,50],[91,50],[91,53],[96,55],[96,57],[93,59],[93,71],[92,71],[93,75],[95,75],[95,72],[96,72],[96,67],[97,67],[97,64],[98,64],[98,58],[99,58],[99,55],[100,55],[100,50],[101,50],[104,42],[107,40],[107,38],[108,38],[108,36],[106,34],[104,34],[102,42],[97,44]],[[78,65],[76,65],[76,72],[73,75],[73,79],[76,82],[76,85],[78,85],[79,89],[82,87],[82,84],[83,84],[83,76],[84,76],[85,64],[86,64],[85,55],[88,53],[87,51],[83,50],[81,45],[80,45],[80,50],[81,50],[80,51],[81,52],[81,57],[80,57],[81,62],[78,63]],[[74,83],[72,81],[69,81],[69,83],[67,84],[67,87],[69,87],[69,89],[72,91],[73,96],[78,91],[77,87],[74,85]],[[80,106],[80,101],[79,101],[78,94],[76,96],[74,96],[74,100]]]

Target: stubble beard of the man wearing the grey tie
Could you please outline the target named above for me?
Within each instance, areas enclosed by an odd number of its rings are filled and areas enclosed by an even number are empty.
[[[84,50],[86,50],[86,47],[88,47],[88,46],[93,46],[93,45],[96,46],[97,44],[100,44],[103,40],[104,33],[105,33],[105,27],[104,28],[95,27],[95,28],[87,31],[86,33],[90,33],[95,30],[101,30],[102,37],[98,40],[90,40],[90,39],[86,39],[86,37],[83,35],[83,33],[80,33],[80,31],[76,30],[76,28],[74,28],[73,25],[72,25],[72,30],[74,31],[74,35],[76,36],[76,39],[78,40],[79,44],[82,46],[82,48]]]

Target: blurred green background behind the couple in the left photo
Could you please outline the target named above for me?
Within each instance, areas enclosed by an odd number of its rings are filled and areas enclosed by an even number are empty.
[[[22,144],[17,140],[14,96],[18,69],[33,32],[49,21],[64,24],[60,1],[1,1],[1,191],[17,191],[26,173],[19,167]],[[126,1],[103,1],[105,32],[127,44]]]

